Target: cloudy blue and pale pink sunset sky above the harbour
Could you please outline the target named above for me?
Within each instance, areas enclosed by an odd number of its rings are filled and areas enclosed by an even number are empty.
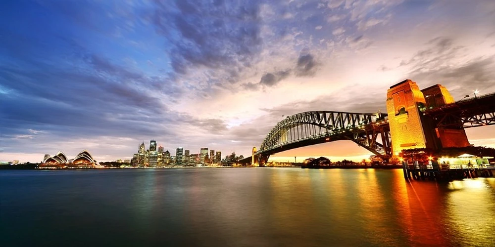
[[[495,92],[493,0],[17,0],[0,13],[1,161],[129,159],[149,140],[250,156],[283,116],[386,112],[405,79],[456,100]],[[495,147],[495,126],[466,132]],[[337,141],[272,160],[369,155]]]

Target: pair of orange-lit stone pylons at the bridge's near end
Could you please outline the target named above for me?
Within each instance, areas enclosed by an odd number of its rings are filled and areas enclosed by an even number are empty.
[[[469,141],[462,128],[446,129],[425,114],[428,109],[453,103],[447,89],[436,84],[420,90],[416,82],[405,80],[387,91],[387,112],[392,135],[393,154],[404,149],[466,147]]]

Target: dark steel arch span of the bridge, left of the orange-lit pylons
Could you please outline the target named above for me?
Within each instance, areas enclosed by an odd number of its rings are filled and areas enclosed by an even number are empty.
[[[330,142],[351,140],[381,157],[390,157],[389,124],[381,114],[303,112],[279,122],[266,136],[258,156]],[[382,143],[377,142],[380,136]]]

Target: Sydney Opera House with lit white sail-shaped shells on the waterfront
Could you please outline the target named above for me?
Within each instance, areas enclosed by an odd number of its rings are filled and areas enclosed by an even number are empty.
[[[54,156],[46,155],[42,164],[39,165],[40,169],[61,169],[61,168],[99,168],[101,165],[93,159],[93,156],[88,150],[81,151],[76,158],[68,160],[67,156],[61,151]]]

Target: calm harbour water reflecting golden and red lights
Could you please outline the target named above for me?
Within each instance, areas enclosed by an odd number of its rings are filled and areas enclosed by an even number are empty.
[[[495,246],[495,179],[401,170],[1,171],[0,246]]]

